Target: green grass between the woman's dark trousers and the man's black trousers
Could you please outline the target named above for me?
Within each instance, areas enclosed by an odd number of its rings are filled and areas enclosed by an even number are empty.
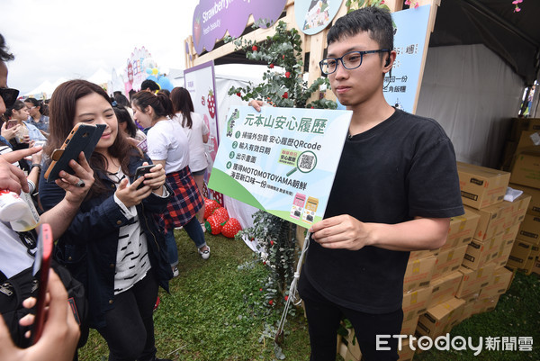
[[[176,231],[180,275],[170,293],[160,289],[161,303],[154,313],[157,356],[173,360],[273,360],[274,342],[265,339],[265,320],[254,302],[262,301],[259,288],[264,266],[238,269],[253,260],[241,240],[205,233],[211,257],[203,260],[184,230]],[[288,360],[308,360],[309,341],[303,312],[289,318],[283,349]],[[91,330],[79,360],[107,359],[103,338]]]

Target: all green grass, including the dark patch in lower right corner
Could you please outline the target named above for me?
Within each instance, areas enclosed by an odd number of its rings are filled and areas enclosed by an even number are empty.
[[[171,281],[171,293],[160,290],[155,312],[157,356],[173,360],[275,360],[274,342],[266,338],[265,319],[256,302],[266,277],[264,266],[238,266],[253,259],[241,240],[206,233],[211,257],[203,260],[184,230],[176,231],[180,276]],[[289,317],[282,345],[285,360],[309,360],[310,346],[303,311]],[[274,319],[275,320],[275,319]],[[540,360],[540,281],[535,275],[518,274],[509,293],[500,297],[494,311],[475,315],[452,330],[451,337],[534,338],[533,352],[427,351],[414,360]],[[79,360],[106,360],[108,348],[94,330],[79,350]],[[341,357],[338,356],[338,359]]]

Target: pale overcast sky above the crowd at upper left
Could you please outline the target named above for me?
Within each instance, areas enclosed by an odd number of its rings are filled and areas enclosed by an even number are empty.
[[[0,33],[14,53],[8,85],[123,71],[145,47],[159,68],[184,68],[184,39],[199,0],[0,0]]]

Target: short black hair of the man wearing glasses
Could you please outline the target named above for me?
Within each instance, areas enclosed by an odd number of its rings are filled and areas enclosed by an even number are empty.
[[[374,6],[363,7],[340,17],[330,28],[327,41],[330,45],[360,32],[367,32],[371,39],[377,41],[380,49],[393,50],[392,15],[388,10]]]

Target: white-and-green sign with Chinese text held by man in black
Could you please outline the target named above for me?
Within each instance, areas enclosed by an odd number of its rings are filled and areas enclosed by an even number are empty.
[[[327,207],[351,111],[231,107],[208,187],[302,227]]]

